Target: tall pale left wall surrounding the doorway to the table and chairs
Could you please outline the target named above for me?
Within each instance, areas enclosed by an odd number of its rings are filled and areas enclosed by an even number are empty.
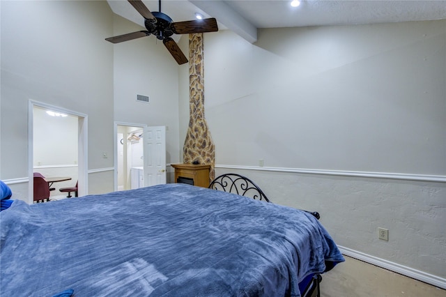
[[[0,178],[15,198],[28,196],[29,100],[89,116],[89,192],[113,190],[100,172],[113,167],[112,35],[106,1],[1,1]]]

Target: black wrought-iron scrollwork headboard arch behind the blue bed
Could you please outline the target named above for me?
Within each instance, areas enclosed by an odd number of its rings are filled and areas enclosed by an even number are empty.
[[[258,185],[240,174],[222,174],[215,178],[208,188],[270,202]]]

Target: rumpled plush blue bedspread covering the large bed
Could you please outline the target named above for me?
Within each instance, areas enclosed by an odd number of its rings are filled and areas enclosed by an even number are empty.
[[[300,296],[344,261],[312,215],[184,184],[0,213],[1,296]]]

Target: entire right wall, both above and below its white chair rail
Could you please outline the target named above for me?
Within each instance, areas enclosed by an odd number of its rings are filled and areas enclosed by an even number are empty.
[[[204,43],[216,174],[243,173],[275,203],[320,211],[344,250],[446,287],[446,20]]]

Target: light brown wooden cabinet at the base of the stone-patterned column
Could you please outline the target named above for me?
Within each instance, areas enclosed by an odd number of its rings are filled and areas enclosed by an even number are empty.
[[[210,165],[171,164],[175,168],[175,182],[208,188]]]

